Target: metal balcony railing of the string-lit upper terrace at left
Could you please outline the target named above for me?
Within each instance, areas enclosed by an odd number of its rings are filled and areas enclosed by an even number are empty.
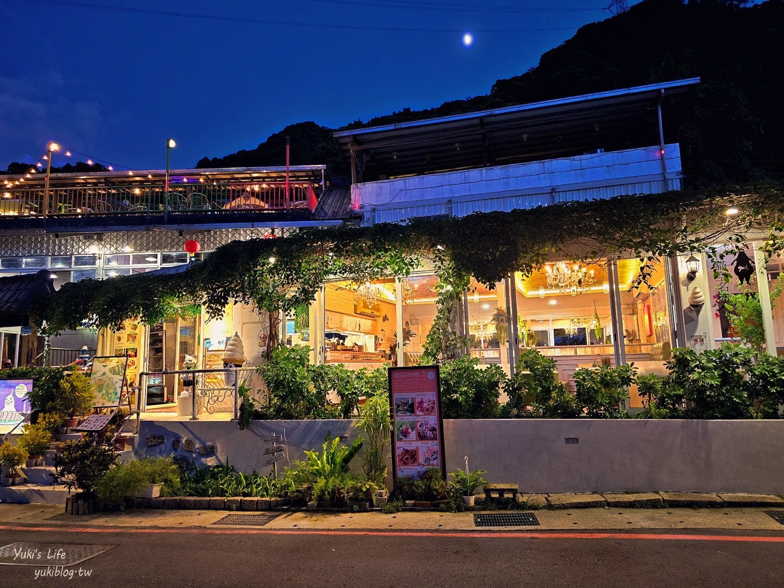
[[[103,216],[114,214],[162,215],[168,212],[236,212],[246,210],[314,209],[313,184],[289,183],[191,183],[129,186],[80,186],[2,191],[0,216]],[[47,210],[45,211],[45,207]]]

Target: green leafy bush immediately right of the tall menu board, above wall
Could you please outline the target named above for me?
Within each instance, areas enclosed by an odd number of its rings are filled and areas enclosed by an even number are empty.
[[[493,419],[499,414],[500,365],[478,367],[479,360],[462,358],[441,364],[441,402],[445,419]]]

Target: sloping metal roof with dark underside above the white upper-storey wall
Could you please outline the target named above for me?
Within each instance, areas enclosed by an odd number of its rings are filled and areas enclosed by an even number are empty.
[[[657,103],[695,84],[699,78],[638,85],[333,137],[343,155],[354,154],[360,175],[365,167],[390,177],[615,151],[658,144]]]

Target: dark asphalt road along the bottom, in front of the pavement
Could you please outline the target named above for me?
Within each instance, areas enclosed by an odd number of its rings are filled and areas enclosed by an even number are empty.
[[[590,533],[564,532],[523,536],[519,532],[273,533],[237,528],[133,531],[4,528],[0,545],[29,541],[117,547],[64,568],[74,569],[71,579],[36,579],[41,566],[0,565],[0,586],[784,585],[784,535],[776,532],[691,532],[713,538],[695,540],[677,539],[684,532],[652,532],[648,535],[662,538],[645,539],[626,533],[594,538]],[[750,535],[778,541],[741,539]],[[731,540],[724,540],[727,537]],[[79,577],[79,568],[89,570],[89,578]]]

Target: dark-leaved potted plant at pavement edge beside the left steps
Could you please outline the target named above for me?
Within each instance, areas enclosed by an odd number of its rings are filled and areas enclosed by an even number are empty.
[[[92,439],[66,441],[57,448],[54,458],[56,484],[76,492],[65,503],[67,514],[90,514],[96,510],[95,488],[100,479],[114,466],[116,456],[111,447]]]

